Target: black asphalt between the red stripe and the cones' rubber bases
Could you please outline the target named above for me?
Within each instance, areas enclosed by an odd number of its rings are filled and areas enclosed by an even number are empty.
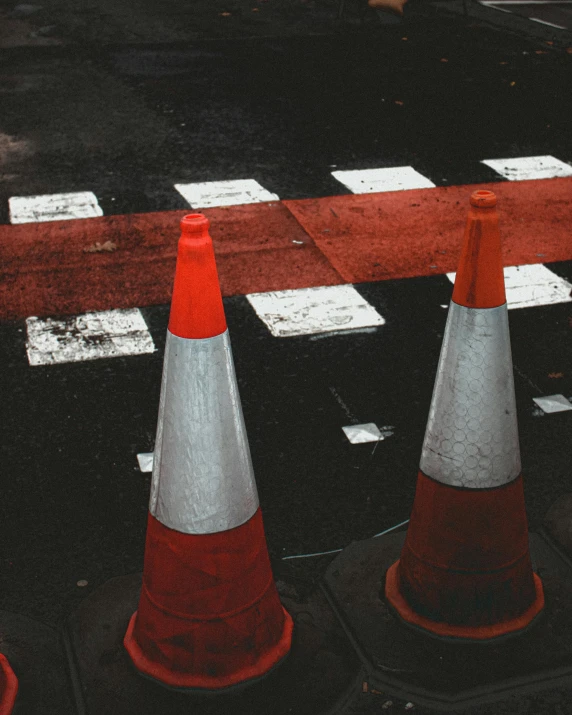
[[[552,264],[572,279],[572,263]],[[274,338],[244,297],[225,299],[268,546],[329,551],[409,517],[451,284],[445,277],[357,285],[385,318],[373,333]],[[56,624],[107,579],[142,567],[168,306],[143,309],[152,355],[30,367],[22,322],[1,327],[2,607]],[[531,527],[569,489],[571,413],[533,397],[572,396],[569,304],[510,311]],[[549,375],[563,373],[563,377]],[[352,445],[342,427],[394,434]],[[316,562],[300,560],[307,576]],[[319,569],[318,569],[319,570]],[[86,580],[81,588],[76,584]]]

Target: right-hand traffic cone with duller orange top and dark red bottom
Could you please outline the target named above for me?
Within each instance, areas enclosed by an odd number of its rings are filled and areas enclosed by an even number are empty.
[[[544,606],[528,545],[496,197],[465,228],[411,512],[385,595],[444,638],[516,633]]]

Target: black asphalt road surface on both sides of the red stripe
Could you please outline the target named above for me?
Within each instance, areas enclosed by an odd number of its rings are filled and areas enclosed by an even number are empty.
[[[121,214],[184,208],[175,182],[305,198],[345,192],[334,165],[460,184],[502,180],[480,159],[572,161],[564,31],[455,0],[410,0],[403,21],[348,1],[341,23],[326,0],[134,6],[0,2],[3,222],[13,195],[92,190]],[[275,573],[288,563],[308,588],[330,557],[284,556],[409,516],[451,292],[445,277],[357,288],[386,318],[376,333],[273,339],[245,298],[225,300]],[[535,417],[532,397],[572,397],[570,305],[510,312],[532,528],[569,490],[571,413]],[[50,367],[27,364],[23,321],[0,325],[2,609],[55,626],[142,566],[136,454],[153,448],[168,306],[143,313],[154,355]],[[351,445],[354,419],[395,435]]]

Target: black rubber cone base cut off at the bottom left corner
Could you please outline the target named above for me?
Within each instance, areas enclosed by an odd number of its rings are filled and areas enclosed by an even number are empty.
[[[0,652],[18,678],[12,715],[72,715],[68,670],[57,631],[0,611]]]

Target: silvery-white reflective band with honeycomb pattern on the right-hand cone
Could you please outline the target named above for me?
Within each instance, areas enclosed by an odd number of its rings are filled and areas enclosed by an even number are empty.
[[[520,474],[506,303],[451,302],[419,466],[439,482],[472,489]]]

